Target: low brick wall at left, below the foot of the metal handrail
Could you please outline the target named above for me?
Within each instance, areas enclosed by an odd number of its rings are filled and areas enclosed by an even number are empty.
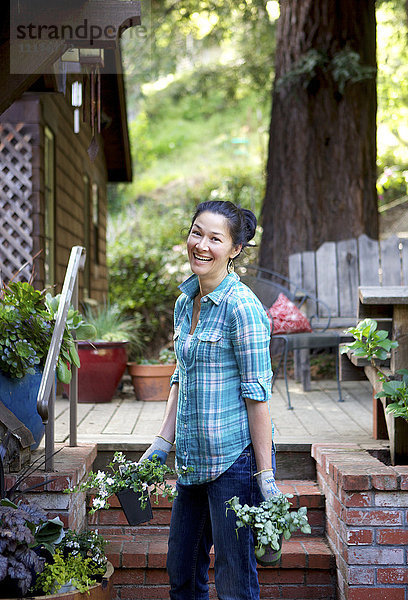
[[[60,446],[61,448],[61,446]],[[58,446],[56,446],[56,450]],[[62,446],[62,450],[54,457],[54,471],[46,473],[43,469],[34,471],[27,477],[19,489],[40,485],[32,492],[23,495],[28,502],[35,502],[45,510],[48,518],[59,517],[64,527],[81,531],[86,527],[86,498],[85,493],[65,494],[67,487],[80,483],[89,471],[96,458],[96,445],[80,445],[75,448]],[[6,490],[14,485],[19,473],[9,473],[5,476]]]

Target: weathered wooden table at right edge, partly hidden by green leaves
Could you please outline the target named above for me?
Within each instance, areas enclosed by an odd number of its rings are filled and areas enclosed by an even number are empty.
[[[359,287],[358,297],[358,320],[375,319],[379,329],[386,329],[398,342],[398,347],[391,350],[389,368],[381,367],[392,378],[398,369],[408,368],[408,286]],[[389,437],[393,460],[408,451],[408,423],[386,414],[386,399],[374,397],[382,388],[377,369],[368,364],[364,372],[373,386],[373,437]]]

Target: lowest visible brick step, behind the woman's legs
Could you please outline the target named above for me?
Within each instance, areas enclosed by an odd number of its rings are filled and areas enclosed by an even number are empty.
[[[111,541],[107,553],[115,567],[116,598],[164,600],[169,597],[165,569],[167,536]],[[210,598],[217,598],[213,563],[212,555]],[[324,538],[291,538],[283,543],[279,565],[258,567],[261,598],[334,600],[335,573],[335,560]]]

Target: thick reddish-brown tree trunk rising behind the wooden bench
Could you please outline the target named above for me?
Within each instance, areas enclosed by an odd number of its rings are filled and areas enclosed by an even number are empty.
[[[260,264],[287,273],[290,254],[366,233],[378,237],[376,81],[333,76],[342,50],[376,66],[374,0],[281,0],[262,211]],[[293,76],[317,50],[324,64]],[[309,56],[309,55],[307,55]],[[279,78],[290,74],[286,83]],[[350,76],[349,76],[350,77]]]

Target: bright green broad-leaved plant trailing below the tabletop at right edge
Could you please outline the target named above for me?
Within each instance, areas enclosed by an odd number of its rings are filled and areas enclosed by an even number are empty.
[[[354,356],[370,361],[382,382],[382,389],[375,397],[389,398],[392,402],[387,405],[386,412],[408,421],[408,369],[396,371],[400,379],[391,379],[380,369],[376,359],[385,360],[388,353],[398,347],[398,342],[390,340],[386,331],[377,328],[378,323],[374,319],[364,319],[356,327],[350,327],[345,333],[350,333],[355,341],[341,346],[340,352],[344,354],[351,350]]]

